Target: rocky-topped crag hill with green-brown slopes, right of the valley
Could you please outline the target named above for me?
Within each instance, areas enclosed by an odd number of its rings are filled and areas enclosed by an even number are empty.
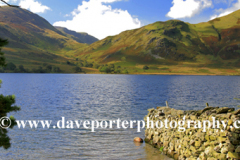
[[[156,22],[107,37],[79,51],[79,57],[95,58],[100,62],[111,61],[113,57],[119,61],[122,56],[130,59],[138,56],[137,62],[151,62],[154,59],[192,60],[196,44],[206,49],[189,24],[174,20]]]

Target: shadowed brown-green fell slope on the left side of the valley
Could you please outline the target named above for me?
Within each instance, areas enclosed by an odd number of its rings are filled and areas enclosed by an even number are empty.
[[[66,67],[66,56],[71,50],[85,47],[72,38],[66,37],[42,17],[21,8],[0,8],[0,37],[8,39],[3,48],[9,62],[36,68],[42,63]]]

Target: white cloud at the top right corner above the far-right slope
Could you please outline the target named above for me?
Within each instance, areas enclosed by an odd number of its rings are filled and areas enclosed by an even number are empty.
[[[240,0],[238,0],[236,3],[232,4],[232,6],[230,8],[227,8],[227,9],[220,8],[220,9],[216,10],[216,12],[218,14],[212,15],[210,17],[210,20],[215,19],[217,17],[226,16],[226,15],[228,15],[236,10],[239,10],[239,9],[240,9]]]

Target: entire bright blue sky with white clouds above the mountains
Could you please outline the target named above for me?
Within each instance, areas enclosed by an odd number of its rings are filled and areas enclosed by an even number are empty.
[[[240,9],[240,0],[6,0],[51,24],[99,39],[156,21],[199,23]]]

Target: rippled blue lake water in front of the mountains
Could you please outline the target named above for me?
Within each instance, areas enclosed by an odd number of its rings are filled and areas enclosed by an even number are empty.
[[[237,107],[239,76],[0,74],[0,93],[15,94],[17,120],[143,120],[147,109],[164,106],[202,109]],[[136,146],[144,130],[18,129],[1,159],[168,159],[147,144]]]

